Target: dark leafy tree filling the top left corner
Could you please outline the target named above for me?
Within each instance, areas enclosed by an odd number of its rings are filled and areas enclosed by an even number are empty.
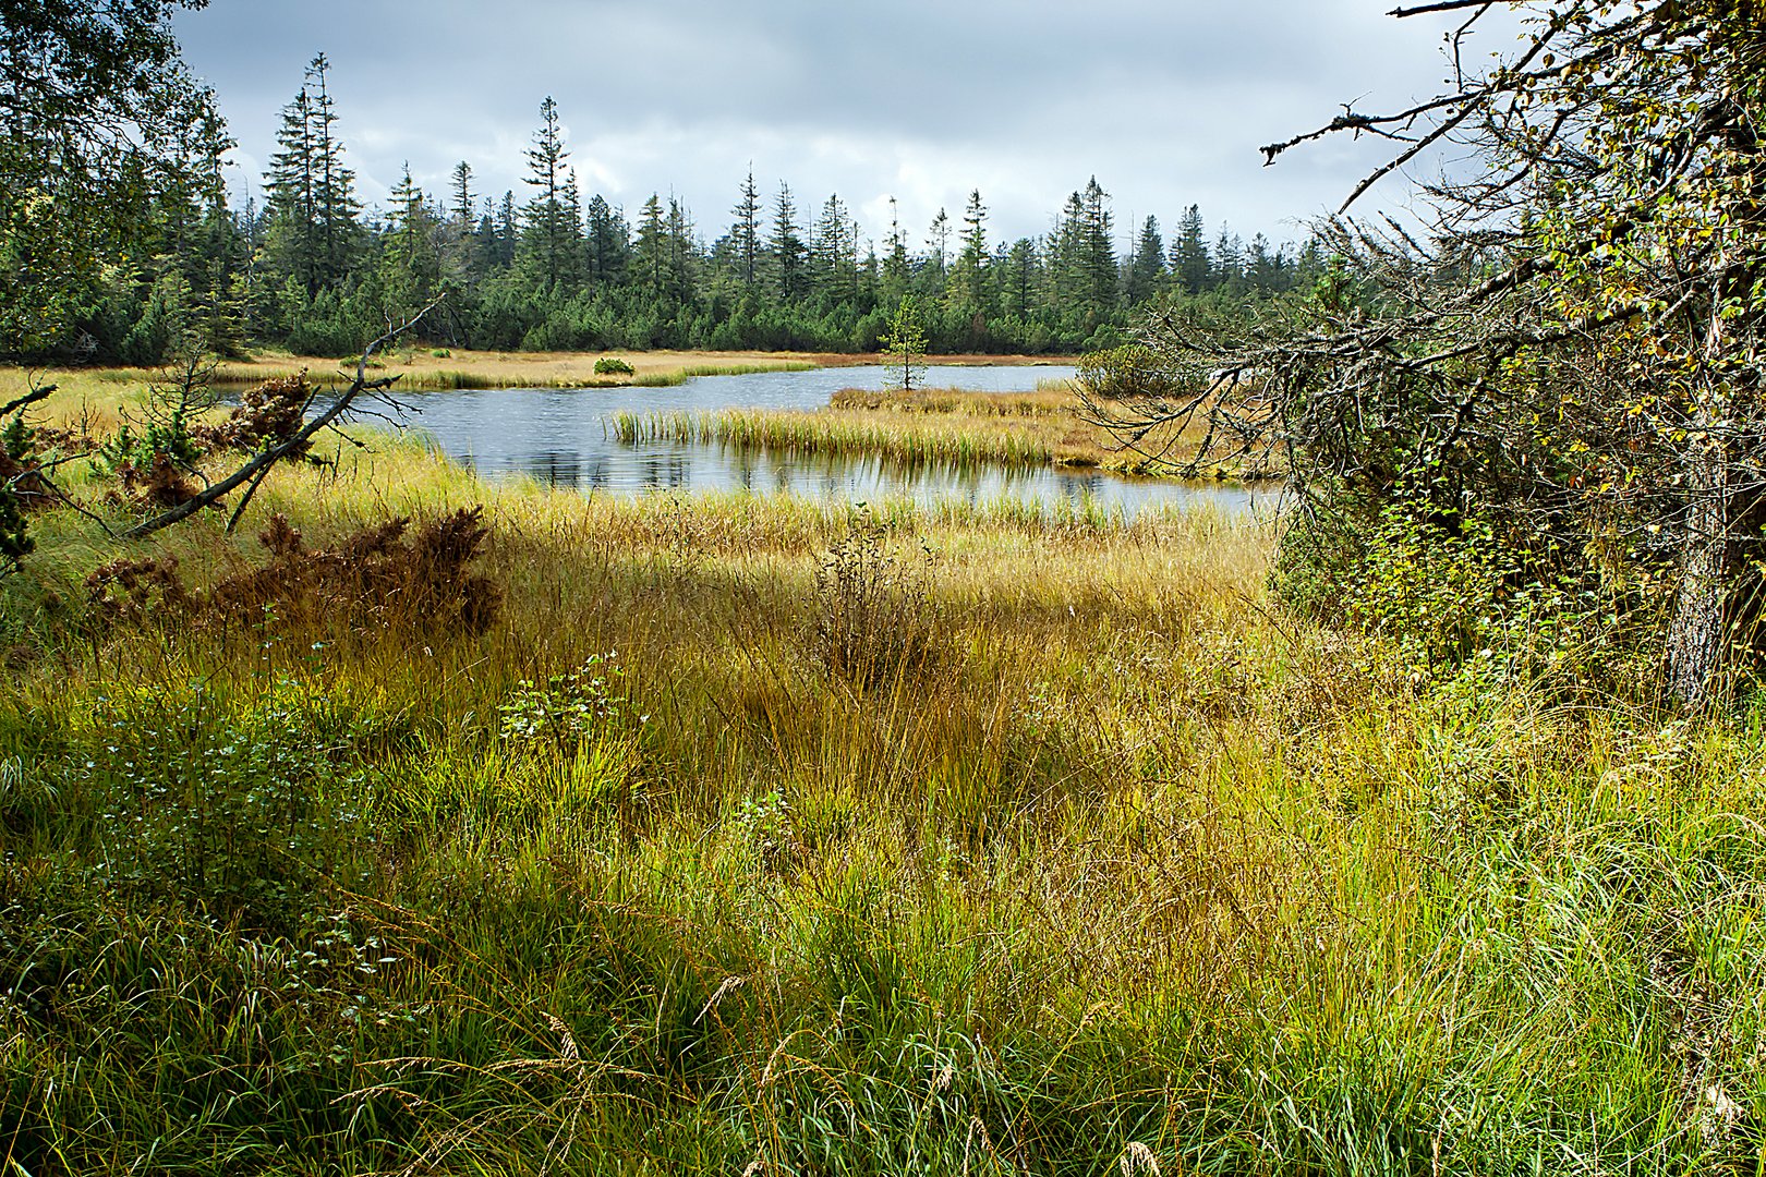
[[[115,346],[97,335],[104,304],[152,295],[194,261],[194,235],[173,226],[200,224],[219,203],[231,141],[178,56],[171,14],[187,7],[201,0],[7,5],[0,355]],[[147,291],[134,289],[136,272]],[[155,330],[136,348],[150,349]]]

